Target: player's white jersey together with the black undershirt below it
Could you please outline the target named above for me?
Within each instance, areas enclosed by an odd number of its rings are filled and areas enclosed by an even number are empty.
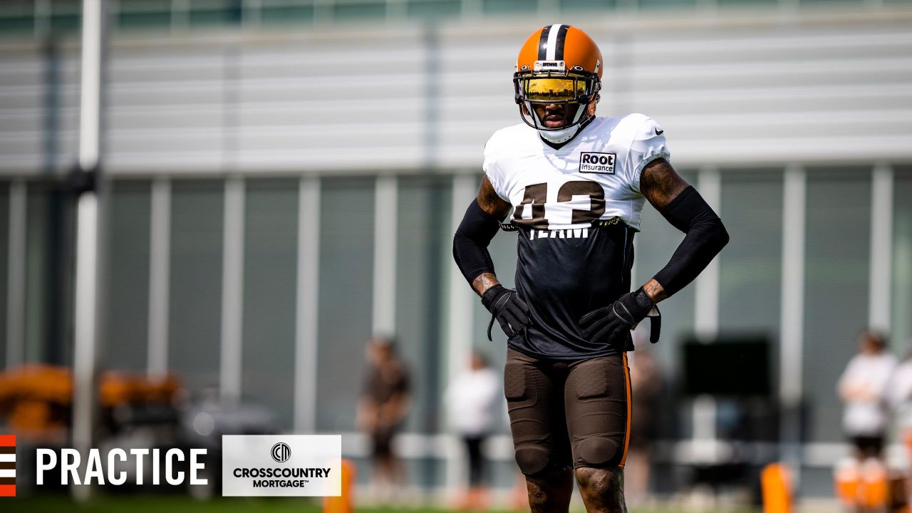
[[[662,132],[654,120],[630,114],[596,118],[558,150],[525,124],[488,141],[484,173],[515,207],[515,286],[532,320],[508,340],[510,347],[557,360],[617,352],[586,340],[578,320],[630,291],[633,237],[645,201],[639,174],[668,158]],[[632,341],[626,346],[632,349]]]

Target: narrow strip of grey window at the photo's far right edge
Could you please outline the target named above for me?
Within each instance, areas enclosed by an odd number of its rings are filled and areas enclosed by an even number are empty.
[[[895,172],[893,187],[893,315],[891,339],[899,354],[912,343],[912,167]]]

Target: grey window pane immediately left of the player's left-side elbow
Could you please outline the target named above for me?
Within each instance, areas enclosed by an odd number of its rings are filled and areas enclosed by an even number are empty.
[[[399,179],[397,226],[396,335],[399,354],[409,365],[412,409],[406,429],[432,433],[440,418],[440,397],[446,386],[441,330],[441,301],[445,289],[443,265],[451,234],[451,179]]]

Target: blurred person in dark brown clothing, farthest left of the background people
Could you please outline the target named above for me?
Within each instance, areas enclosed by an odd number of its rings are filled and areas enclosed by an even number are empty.
[[[373,495],[389,501],[406,483],[405,468],[393,452],[392,440],[409,413],[409,370],[399,360],[395,341],[389,338],[370,340],[367,359],[358,427],[370,438]]]

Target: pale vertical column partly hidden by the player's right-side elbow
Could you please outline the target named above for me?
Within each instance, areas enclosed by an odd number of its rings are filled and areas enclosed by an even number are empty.
[[[700,195],[721,216],[722,182],[718,169],[704,168],[697,179]],[[713,258],[694,284],[694,330],[698,337],[712,338],[719,331],[719,257]]]

